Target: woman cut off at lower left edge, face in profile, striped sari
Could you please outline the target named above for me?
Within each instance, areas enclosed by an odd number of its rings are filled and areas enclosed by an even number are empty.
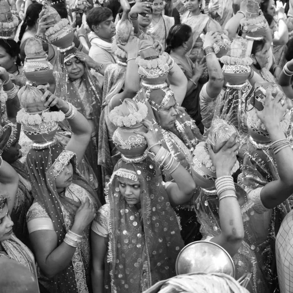
[[[2,132],[2,128],[0,129]],[[26,267],[37,280],[33,253],[14,235],[11,212],[18,190],[19,176],[0,157],[0,258],[8,257]],[[4,268],[1,268],[4,270]]]

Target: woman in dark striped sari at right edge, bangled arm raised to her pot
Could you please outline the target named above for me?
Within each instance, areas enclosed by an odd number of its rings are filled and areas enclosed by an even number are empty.
[[[244,159],[238,183],[254,203],[254,212],[250,213],[254,238],[248,243],[253,245],[262,274],[270,285],[267,292],[274,292],[278,287],[275,236],[290,210],[287,199],[293,188],[292,118],[280,90],[275,98],[267,90],[264,109],[252,108],[248,113],[250,138],[241,147]]]

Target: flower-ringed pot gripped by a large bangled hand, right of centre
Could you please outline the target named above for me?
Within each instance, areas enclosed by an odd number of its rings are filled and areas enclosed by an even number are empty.
[[[200,142],[193,151],[193,160],[191,174],[196,185],[201,188],[215,188],[216,169],[209,156],[208,144],[217,152],[223,142],[229,140],[231,135],[236,132],[236,128],[222,119],[215,119],[211,126],[209,136],[206,142]],[[231,174],[239,169],[239,163],[236,161],[231,170]]]

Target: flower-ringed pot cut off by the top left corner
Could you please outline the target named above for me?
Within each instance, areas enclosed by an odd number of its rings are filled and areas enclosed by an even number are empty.
[[[12,14],[8,1],[0,5],[0,39],[13,39],[14,31],[19,25],[19,19]]]

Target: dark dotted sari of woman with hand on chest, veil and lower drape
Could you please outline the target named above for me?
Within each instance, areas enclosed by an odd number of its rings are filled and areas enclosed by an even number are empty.
[[[66,191],[65,195],[62,196],[58,194],[56,189],[56,172],[61,172],[69,162],[74,170],[73,184],[84,188],[94,203],[100,206],[96,192],[86,183],[77,169],[75,153],[64,150],[58,143],[50,148],[31,149],[26,158],[33,196],[51,218],[57,233],[58,246],[63,242],[67,230],[71,228],[75,212],[81,205],[81,199],[76,201],[67,197]],[[76,196],[78,197],[79,194]],[[66,269],[51,280],[52,291],[50,293],[65,293],[68,292],[69,288],[72,293],[90,292],[90,272],[85,273],[84,268],[84,261],[88,253],[89,248],[84,251],[81,244],[78,246]]]

